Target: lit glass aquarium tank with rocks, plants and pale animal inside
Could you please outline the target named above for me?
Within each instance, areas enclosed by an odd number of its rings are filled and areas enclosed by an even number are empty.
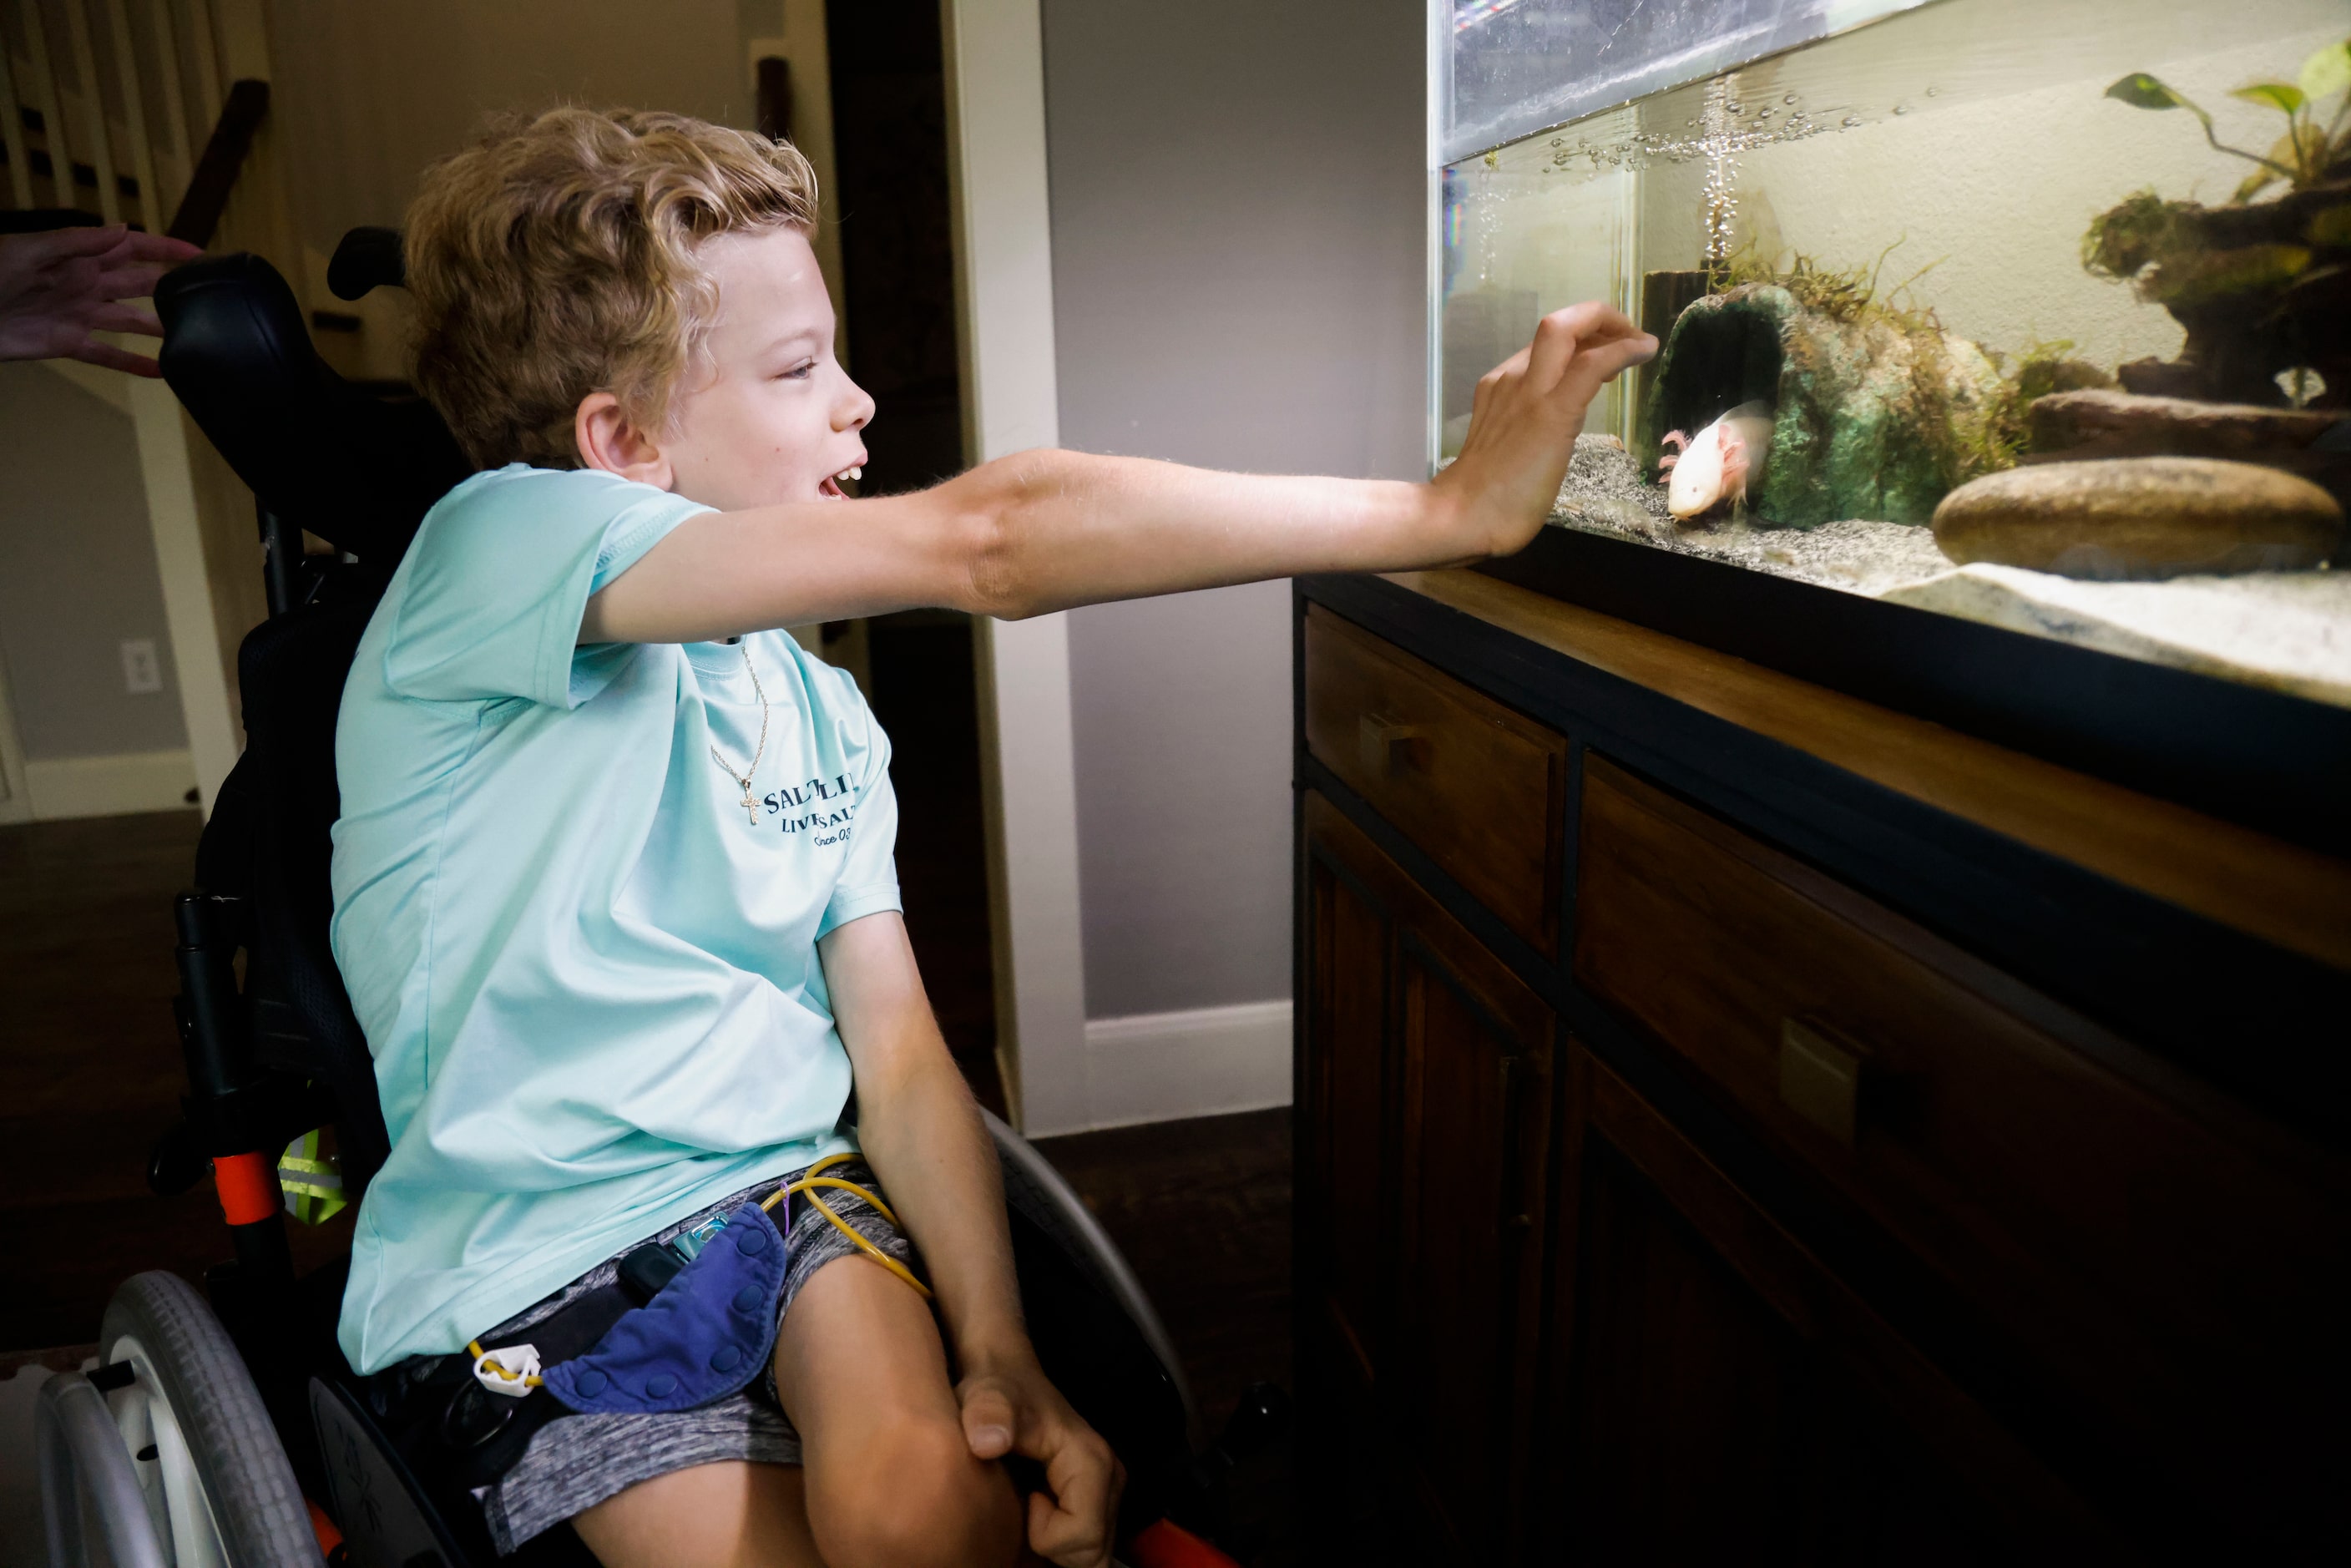
[[[1432,463],[1601,299],[1662,353],[1556,529],[2351,708],[2351,2],[1441,0],[1436,35]]]

